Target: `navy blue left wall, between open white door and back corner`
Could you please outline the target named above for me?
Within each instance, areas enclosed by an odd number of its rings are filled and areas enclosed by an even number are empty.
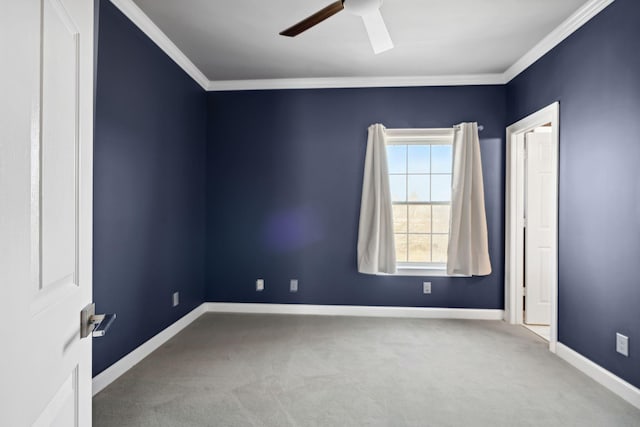
[[[99,7],[93,285],[97,310],[118,318],[94,340],[94,375],[203,301],[206,228],[205,92]]]

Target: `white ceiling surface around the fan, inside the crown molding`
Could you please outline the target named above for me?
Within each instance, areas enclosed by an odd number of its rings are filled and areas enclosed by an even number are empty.
[[[298,37],[278,35],[332,1],[134,0],[214,81],[500,74],[589,3],[385,0],[395,48],[380,55],[345,11]]]

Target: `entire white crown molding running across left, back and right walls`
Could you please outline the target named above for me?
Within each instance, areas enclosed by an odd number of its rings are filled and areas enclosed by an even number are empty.
[[[518,59],[504,73],[448,76],[327,77],[216,81],[209,80],[132,0],[110,1],[207,91],[502,85],[513,80],[518,74],[614,2],[614,0],[589,1],[554,29],[548,36],[542,39],[533,49]]]

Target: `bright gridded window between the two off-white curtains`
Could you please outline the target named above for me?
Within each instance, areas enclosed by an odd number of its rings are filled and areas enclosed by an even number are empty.
[[[398,269],[444,269],[451,212],[452,130],[389,129],[387,137]]]

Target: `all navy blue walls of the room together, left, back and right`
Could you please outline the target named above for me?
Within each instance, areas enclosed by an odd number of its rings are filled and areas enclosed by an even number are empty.
[[[208,95],[99,3],[94,299],[118,320],[94,341],[95,374],[204,300],[502,308],[504,128],[559,100],[559,338],[640,386],[637,1],[617,0],[507,86]],[[423,278],[358,274],[368,125],[462,121],[485,126],[493,274],[430,278],[431,295]]]

